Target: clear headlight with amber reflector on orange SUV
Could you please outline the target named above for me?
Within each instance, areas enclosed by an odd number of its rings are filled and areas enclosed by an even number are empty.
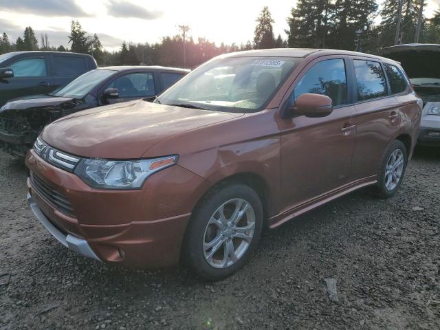
[[[100,189],[139,189],[147,177],[177,163],[177,155],[153,159],[83,159],[75,173],[89,186]]]

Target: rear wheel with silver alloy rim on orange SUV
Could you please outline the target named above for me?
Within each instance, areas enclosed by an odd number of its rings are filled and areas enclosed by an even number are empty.
[[[403,142],[395,140],[386,150],[377,178],[375,192],[378,197],[390,198],[404,179],[408,153]]]

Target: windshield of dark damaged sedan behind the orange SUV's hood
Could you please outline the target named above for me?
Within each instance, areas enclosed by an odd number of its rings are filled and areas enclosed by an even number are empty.
[[[76,78],[72,83],[62,89],[50,94],[66,98],[84,98],[91,89],[101,83],[104,79],[115,74],[113,70],[92,70]]]

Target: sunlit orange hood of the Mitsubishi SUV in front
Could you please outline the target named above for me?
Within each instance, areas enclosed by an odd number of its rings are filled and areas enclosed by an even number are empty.
[[[51,146],[74,155],[139,158],[167,137],[241,115],[136,100],[61,118],[48,125],[41,137]]]

